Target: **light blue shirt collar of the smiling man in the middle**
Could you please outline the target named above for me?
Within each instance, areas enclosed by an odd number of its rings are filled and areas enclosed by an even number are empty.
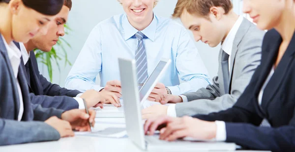
[[[128,21],[127,15],[123,18],[123,29],[125,33],[125,41],[128,40],[130,37],[135,35],[137,32],[139,32],[136,28],[134,28]],[[153,19],[151,23],[141,32],[145,34],[146,37],[148,37],[151,41],[154,41],[155,39],[155,33],[157,28],[157,18],[155,15],[153,15]]]

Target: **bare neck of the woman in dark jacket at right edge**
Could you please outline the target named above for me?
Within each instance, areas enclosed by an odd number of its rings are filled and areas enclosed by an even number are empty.
[[[279,19],[279,24],[274,28],[282,36],[283,42],[290,42],[295,32],[295,6],[292,9],[285,9]]]

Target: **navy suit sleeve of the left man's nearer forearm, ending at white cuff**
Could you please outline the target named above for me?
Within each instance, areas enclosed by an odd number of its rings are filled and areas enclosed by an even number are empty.
[[[67,96],[43,96],[29,94],[32,104],[40,104],[44,108],[57,108],[62,110],[71,110],[79,108],[79,103],[72,97]]]

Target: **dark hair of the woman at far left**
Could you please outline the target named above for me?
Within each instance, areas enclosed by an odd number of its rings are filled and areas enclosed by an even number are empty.
[[[0,0],[9,3],[10,0]],[[57,15],[64,0],[22,0],[24,5],[44,15]]]

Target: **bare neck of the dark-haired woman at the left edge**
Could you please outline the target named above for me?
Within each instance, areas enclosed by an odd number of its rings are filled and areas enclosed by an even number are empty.
[[[12,38],[11,29],[11,14],[9,12],[8,4],[0,3],[0,33],[3,35],[7,44],[9,44]]]

